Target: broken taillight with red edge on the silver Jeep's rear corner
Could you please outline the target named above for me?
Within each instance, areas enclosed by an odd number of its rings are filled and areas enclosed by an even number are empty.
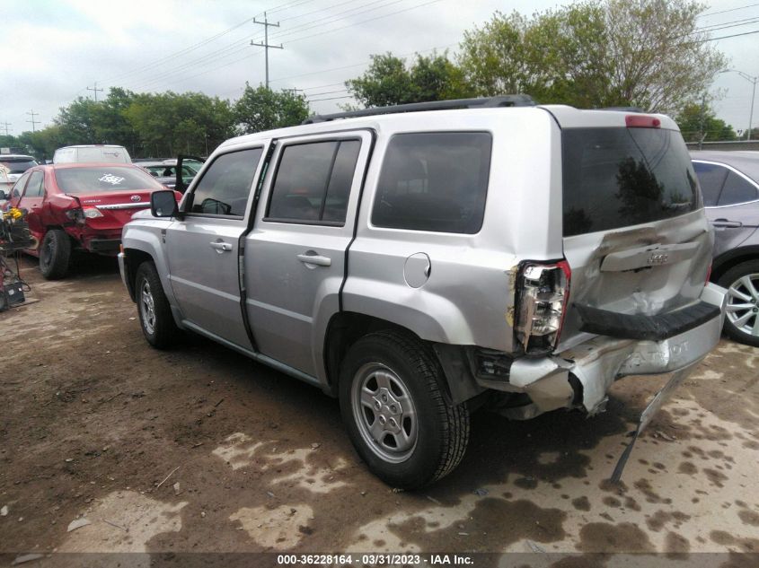
[[[526,262],[516,283],[516,338],[525,353],[552,351],[564,323],[571,269],[565,260],[554,264]]]

